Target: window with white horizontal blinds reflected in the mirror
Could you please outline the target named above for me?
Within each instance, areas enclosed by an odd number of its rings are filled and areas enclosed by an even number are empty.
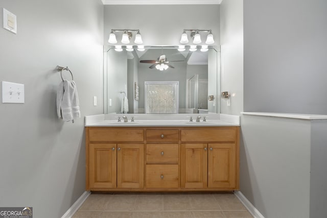
[[[178,113],[178,81],[146,81],[145,113]]]

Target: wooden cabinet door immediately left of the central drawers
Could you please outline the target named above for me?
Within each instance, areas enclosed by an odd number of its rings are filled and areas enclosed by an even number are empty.
[[[117,145],[117,187],[144,187],[144,144]]]

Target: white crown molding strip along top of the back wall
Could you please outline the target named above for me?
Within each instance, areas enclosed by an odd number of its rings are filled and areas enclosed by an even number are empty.
[[[102,0],[104,5],[219,5],[222,0]]]

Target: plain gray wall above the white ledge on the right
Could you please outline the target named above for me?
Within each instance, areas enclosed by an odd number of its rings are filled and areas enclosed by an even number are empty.
[[[327,114],[326,20],[325,0],[244,1],[244,111]]]

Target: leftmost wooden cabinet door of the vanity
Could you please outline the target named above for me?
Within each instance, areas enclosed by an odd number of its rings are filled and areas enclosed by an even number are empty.
[[[89,144],[89,188],[116,187],[116,144]]]

